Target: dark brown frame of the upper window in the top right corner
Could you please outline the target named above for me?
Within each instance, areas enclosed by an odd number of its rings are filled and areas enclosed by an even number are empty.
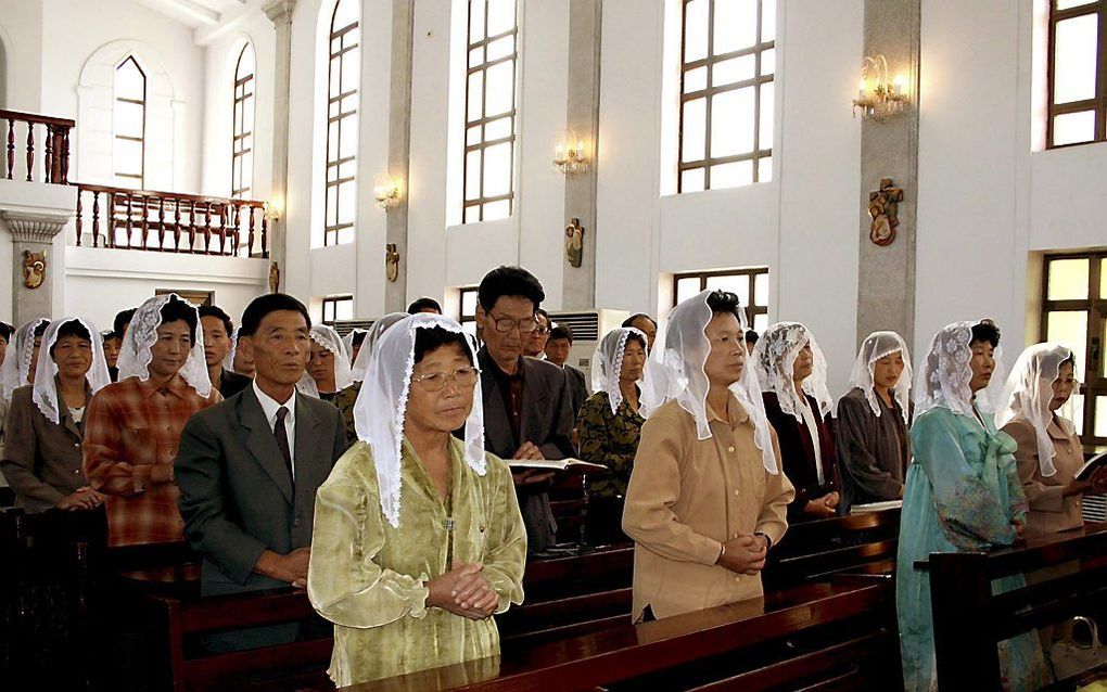
[[[1049,2],[1049,28],[1048,48],[1046,49],[1047,78],[1046,78],[1046,125],[1045,125],[1045,147],[1046,149],[1066,148],[1069,146],[1084,146],[1097,142],[1107,142],[1107,0],[1093,0],[1087,4],[1082,4],[1064,10],[1057,9],[1057,0]],[[1064,104],[1056,104],[1054,96],[1054,76],[1056,70],[1056,40],[1057,24],[1078,17],[1098,13],[1098,31],[1096,33],[1096,93],[1092,99],[1073,101]],[[1069,144],[1053,143],[1053,121],[1058,115],[1067,113],[1083,113],[1093,111],[1095,114],[1095,133],[1087,142],[1072,142]]]

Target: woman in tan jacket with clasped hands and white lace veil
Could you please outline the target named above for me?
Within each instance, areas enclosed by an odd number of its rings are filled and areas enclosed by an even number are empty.
[[[693,296],[663,331],[645,368],[622,521],[634,539],[635,620],[761,596],[795,495],[746,366],[737,297]]]

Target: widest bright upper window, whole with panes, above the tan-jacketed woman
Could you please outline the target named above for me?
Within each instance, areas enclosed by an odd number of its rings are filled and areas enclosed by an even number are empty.
[[[776,0],[683,0],[677,192],[773,179]]]

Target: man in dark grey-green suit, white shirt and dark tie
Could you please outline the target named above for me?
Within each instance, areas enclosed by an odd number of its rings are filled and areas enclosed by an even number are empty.
[[[254,382],[182,433],[179,507],[185,538],[204,557],[205,596],[307,582],[315,490],[346,450],[339,410],[296,391],[310,326],[296,298],[256,298],[238,341]]]

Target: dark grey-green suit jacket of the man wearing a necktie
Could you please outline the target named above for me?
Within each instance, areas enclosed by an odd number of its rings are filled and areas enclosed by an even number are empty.
[[[185,538],[204,556],[201,591],[288,586],[254,572],[266,549],[311,545],[315,490],[346,451],[342,414],[296,395],[296,487],[254,388],[206,409],[180,434],[175,474]]]

